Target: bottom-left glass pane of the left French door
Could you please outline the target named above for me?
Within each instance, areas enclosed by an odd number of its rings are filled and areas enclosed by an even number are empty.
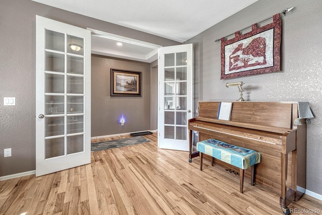
[[[65,153],[64,137],[45,140],[45,158],[63,156]]]

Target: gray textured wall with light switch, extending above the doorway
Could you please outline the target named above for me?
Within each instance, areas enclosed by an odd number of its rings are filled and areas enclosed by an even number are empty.
[[[179,44],[29,0],[1,0],[0,177],[35,170],[36,15],[162,46]],[[3,97],[16,97],[16,106],[4,106]],[[12,157],[4,158],[7,148],[12,148]]]

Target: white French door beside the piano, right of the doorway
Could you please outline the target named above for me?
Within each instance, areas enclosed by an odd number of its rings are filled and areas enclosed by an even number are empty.
[[[193,110],[192,44],[159,48],[158,147],[189,151]]]

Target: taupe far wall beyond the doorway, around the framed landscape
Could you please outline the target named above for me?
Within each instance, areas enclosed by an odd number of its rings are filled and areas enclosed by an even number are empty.
[[[111,68],[140,71],[141,97],[110,96]],[[149,112],[150,64],[92,55],[92,136],[150,130]],[[124,126],[120,124],[122,115]]]

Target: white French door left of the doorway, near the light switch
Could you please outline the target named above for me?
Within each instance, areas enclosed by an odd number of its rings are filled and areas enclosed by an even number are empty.
[[[91,163],[91,31],[36,16],[36,176]]]

